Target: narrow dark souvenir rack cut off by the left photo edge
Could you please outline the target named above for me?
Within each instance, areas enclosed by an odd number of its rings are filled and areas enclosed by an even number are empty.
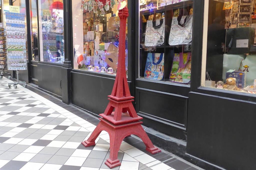
[[[5,73],[7,67],[7,51],[6,51],[6,32],[4,28],[0,28],[0,80],[4,75],[10,78],[11,74]]]

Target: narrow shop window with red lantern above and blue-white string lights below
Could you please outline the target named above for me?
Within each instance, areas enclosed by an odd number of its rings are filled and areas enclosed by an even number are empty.
[[[63,0],[38,0],[40,61],[64,62]]]

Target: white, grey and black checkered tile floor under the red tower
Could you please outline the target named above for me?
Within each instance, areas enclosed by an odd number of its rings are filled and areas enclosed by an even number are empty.
[[[0,80],[0,169],[109,169],[104,164],[110,154],[105,131],[95,146],[81,145],[98,124],[97,118],[32,87],[9,88],[8,82],[12,81]],[[134,137],[124,139],[118,159],[122,164],[113,169],[200,169],[169,153],[151,155]]]

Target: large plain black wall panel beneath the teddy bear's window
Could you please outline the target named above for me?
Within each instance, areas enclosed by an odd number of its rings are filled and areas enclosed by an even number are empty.
[[[189,94],[187,153],[232,170],[256,167],[256,103]]]

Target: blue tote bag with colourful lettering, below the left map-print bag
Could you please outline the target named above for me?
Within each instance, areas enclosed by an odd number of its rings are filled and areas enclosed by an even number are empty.
[[[164,77],[164,53],[148,53],[144,76],[150,80]]]

